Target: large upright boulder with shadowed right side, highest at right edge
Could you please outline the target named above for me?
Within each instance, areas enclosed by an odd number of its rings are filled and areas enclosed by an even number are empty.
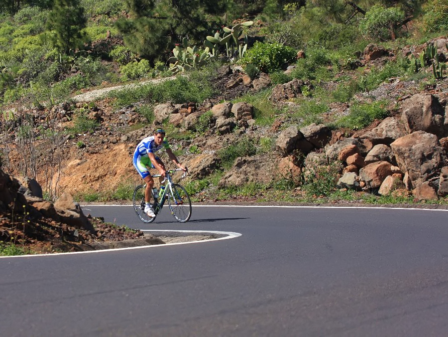
[[[401,120],[407,133],[425,131],[444,136],[445,111],[439,100],[431,94],[416,94],[403,103]]]

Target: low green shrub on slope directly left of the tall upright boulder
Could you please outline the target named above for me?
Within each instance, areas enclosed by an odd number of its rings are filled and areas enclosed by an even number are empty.
[[[375,119],[383,119],[388,116],[385,109],[385,101],[379,101],[371,104],[353,104],[347,116],[340,118],[336,126],[340,128],[349,128],[350,130],[359,130],[365,128]]]

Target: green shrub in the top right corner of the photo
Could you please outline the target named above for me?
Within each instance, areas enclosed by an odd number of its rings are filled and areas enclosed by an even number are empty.
[[[448,31],[448,1],[429,0],[423,6],[423,28],[427,32]]]

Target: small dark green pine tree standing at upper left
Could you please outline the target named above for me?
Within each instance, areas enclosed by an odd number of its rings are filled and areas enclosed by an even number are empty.
[[[86,27],[84,7],[79,0],[55,0],[48,17],[47,29],[54,32],[52,43],[55,48],[66,54],[83,46]]]

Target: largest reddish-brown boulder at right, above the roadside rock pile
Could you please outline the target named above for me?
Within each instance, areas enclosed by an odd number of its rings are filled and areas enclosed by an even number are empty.
[[[397,139],[390,146],[398,167],[409,174],[414,187],[434,176],[435,171],[443,167],[444,150],[433,134],[416,131]]]

